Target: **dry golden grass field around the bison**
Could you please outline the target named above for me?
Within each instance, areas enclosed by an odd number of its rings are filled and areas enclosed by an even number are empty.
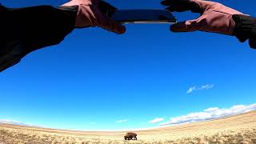
[[[125,141],[122,132],[52,130],[0,124],[0,144],[73,143],[251,143],[256,144],[256,111],[208,122],[133,131],[138,141]]]

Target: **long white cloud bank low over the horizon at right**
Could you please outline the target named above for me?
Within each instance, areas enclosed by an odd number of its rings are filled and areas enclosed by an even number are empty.
[[[168,122],[164,122],[161,126],[164,125],[175,125],[189,122],[201,122],[215,118],[223,118],[236,114],[243,114],[256,110],[256,103],[249,106],[238,105],[232,106],[229,109],[219,109],[218,107],[209,108],[203,110],[202,112],[190,113],[180,117],[170,118]]]

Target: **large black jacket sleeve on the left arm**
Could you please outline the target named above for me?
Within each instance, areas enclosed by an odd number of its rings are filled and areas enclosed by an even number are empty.
[[[0,5],[0,72],[31,51],[62,42],[74,30],[77,11],[77,6],[10,9]]]

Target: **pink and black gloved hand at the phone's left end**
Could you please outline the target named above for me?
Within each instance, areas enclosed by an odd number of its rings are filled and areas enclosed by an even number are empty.
[[[126,27],[118,22],[108,18],[102,10],[112,9],[107,2],[101,0],[71,0],[62,6],[78,6],[78,13],[75,22],[75,27],[82,28],[87,26],[98,26],[105,30],[110,30],[117,34],[123,34]]]

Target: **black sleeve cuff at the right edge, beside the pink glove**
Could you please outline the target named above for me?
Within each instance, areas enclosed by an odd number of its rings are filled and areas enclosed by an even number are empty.
[[[240,42],[246,42],[249,39],[251,48],[256,49],[256,18],[235,14],[232,17],[235,22],[234,36]]]

